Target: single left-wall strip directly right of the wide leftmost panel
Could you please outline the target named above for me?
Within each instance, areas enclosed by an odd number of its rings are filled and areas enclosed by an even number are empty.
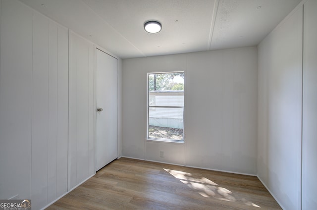
[[[48,107],[49,107],[49,20],[33,13],[32,69],[32,174],[33,208],[47,204]]]

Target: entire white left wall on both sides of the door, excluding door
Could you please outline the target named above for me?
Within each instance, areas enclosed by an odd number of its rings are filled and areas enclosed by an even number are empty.
[[[95,172],[94,44],[18,0],[0,6],[0,199],[42,209]],[[118,72],[120,126],[121,59]]]

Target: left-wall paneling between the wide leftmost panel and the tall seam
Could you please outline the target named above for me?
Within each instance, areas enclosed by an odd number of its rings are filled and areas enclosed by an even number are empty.
[[[67,192],[67,44],[66,28],[33,13],[31,198],[39,201],[36,208]]]

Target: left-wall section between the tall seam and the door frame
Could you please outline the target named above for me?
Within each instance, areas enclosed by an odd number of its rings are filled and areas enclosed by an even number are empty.
[[[94,113],[94,44],[69,32],[69,188],[95,173]]]

